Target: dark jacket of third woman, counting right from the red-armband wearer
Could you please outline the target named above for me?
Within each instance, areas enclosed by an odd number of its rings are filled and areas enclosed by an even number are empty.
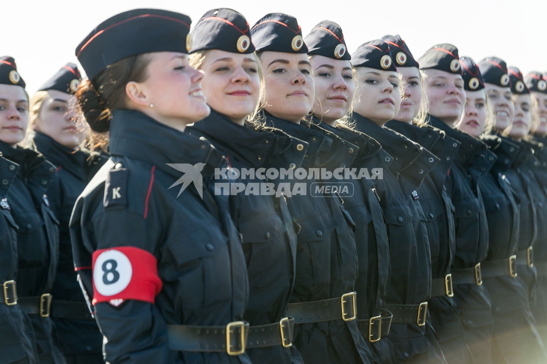
[[[264,116],[266,126],[279,128],[310,144],[302,161],[302,168],[310,173],[308,179],[293,181],[305,183],[307,193],[287,199],[290,215],[300,226],[290,303],[327,300],[354,291],[358,273],[355,223],[335,193],[312,193],[321,180],[311,175],[312,168],[333,171],[340,165],[351,165],[354,154],[347,152],[349,143],[269,113]],[[357,301],[366,299],[360,295]],[[372,361],[356,320],[299,324],[295,327],[295,345],[306,363]]]

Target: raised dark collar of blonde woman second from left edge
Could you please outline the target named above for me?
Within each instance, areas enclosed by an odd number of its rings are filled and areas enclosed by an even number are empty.
[[[67,148],[40,132],[36,132],[33,142],[38,151],[57,168],[64,169],[80,180],[85,180],[84,166],[89,155],[81,150]]]

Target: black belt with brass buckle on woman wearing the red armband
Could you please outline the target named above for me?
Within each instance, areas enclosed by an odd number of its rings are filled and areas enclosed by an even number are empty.
[[[171,350],[241,355],[245,353],[249,322],[235,321],[226,326],[167,325],[167,332]]]

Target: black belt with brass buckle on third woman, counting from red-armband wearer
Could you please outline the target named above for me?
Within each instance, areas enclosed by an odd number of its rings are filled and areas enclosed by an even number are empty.
[[[329,300],[289,303],[287,316],[294,318],[295,324],[339,319],[352,321],[357,317],[356,295],[356,292],[350,292]]]

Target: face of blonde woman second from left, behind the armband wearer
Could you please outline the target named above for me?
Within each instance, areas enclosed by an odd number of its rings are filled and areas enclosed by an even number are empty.
[[[57,90],[44,92],[46,96],[32,125],[33,129],[67,148],[76,148],[82,142],[83,135],[76,128],[74,108],[70,107],[74,97]]]

